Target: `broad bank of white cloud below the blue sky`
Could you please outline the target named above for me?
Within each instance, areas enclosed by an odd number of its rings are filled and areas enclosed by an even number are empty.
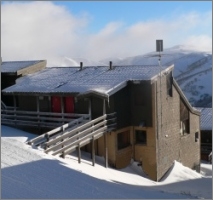
[[[5,3],[1,56],[3,60],[47,59],[53,66],[60,65],[63,57],[100,60],[144,54],[155,51],[156,39],[163,39],[165,48],[182,44],[209,51],[211,16],[211,12],[192,12],[132,25],[113,21],[89,33],[88,14],[73,15],[52,2]]]

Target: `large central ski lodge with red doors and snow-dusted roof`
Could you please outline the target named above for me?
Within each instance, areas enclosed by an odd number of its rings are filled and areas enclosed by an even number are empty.
[[[118,169],[138,161],[158,181],[174,160],[200,168],[200,112],[174,80],[173,68],[51,67],[19,79],[3,94],[16,97],[19,110],[88,113],[92,120],[116,113],[116,129],[95,140],[95,153]]]

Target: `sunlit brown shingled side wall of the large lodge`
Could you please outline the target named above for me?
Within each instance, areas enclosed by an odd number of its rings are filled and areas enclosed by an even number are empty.
[[[157,181],[177,160],[183,165],[194,168],[199,164],[200,142],[195,142],[195,132],[199,132],[199,116],[190,113],[190,134],[180,134],[180,95],[172,84],[172,97],[167,94],[167,80],[164,75],[156,84],[156,151],[157,151]],[[161,109],[162,108],[162,109]],[[162,126],[161,126],[162,121]],[[200,138],[200,133],[199,133]]]

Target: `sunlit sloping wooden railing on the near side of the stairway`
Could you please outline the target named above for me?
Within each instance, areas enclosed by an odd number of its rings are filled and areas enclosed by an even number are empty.
[[[76,147],[80,148],[115,128],[116,113],[105,114],[75,129],[65,130],[63,134],[57,137],[48,138],[48,141],[43,143],[43,148],[45,153],[65,157],[65,155],[74,151]]]

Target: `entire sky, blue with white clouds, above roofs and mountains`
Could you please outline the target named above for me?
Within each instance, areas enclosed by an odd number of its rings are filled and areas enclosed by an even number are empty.
[[[3,60],[130,57],[175,45],[212,50],[211,1],[7,1]],[[21,49],[21,51],[20,51]],[[51,61],[51,62],[50,62]]]

